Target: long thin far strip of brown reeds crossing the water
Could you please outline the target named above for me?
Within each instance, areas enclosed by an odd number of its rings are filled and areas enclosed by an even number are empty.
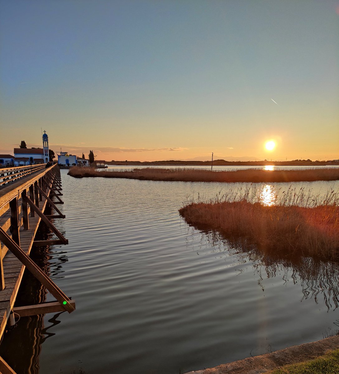
[[[233,171],[210,171],[191,168],[143,168],[131,171],[98,171],[95,168],[71,168],[68,172],[75,178],[129,178],[151,181],[184,181],[184,182],[300,182],[339,180],[339,168],[319,168],[306,170],[262,170],[241,169]]]

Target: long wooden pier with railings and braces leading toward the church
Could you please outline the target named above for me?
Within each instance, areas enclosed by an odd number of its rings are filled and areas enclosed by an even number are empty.
[[[68,244],[50,221],[65,218],[56,206],[63,204],[60,169],[58,165],[45,166],[0,169],[0,338],[7,324],[15,324],[15,316],[75,310],[74,301],[29,257],[33,245]],[[44,214],[47,205],[55,214]],[[35,240],[41,221],[52,230],[55,239]],[[25,268],[55,297],[55,302],[14,307]],[[15,374],[1,357],[0,373]]]

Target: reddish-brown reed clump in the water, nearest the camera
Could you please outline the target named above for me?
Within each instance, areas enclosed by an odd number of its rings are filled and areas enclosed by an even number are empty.
[[[212,229],[225,237],[242,237],[261,251],[339,260],[339,196],[325,197],[289,188],[265,206],[253,186],[230,189],[212,199],[187,201],[182,217],[198,229]]]

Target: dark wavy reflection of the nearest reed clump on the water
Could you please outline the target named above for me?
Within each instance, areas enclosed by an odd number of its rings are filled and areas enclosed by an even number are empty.
[[[302,254],[283,253],[259,248],[243,238],[230,238],[215,230],[201,230],[211,248],[235,256],[239,263],[250,264],[257,276],[258,286],[264,291],[264,279],[281,277],[285,283],[292,281],[302,289],[301,300],[314,299],[324,303],[327,310],[339,306],[339,263],[304,257]],[[189,230],[192,230],[190,227]],[[243,272],[242,269],[236,269]],[[339,321],[337,321],[339,322]],[[338,324],[339,325],[339,324]]]

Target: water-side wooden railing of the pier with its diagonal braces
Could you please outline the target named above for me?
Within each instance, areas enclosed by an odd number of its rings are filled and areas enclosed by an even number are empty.
[[[40,165],[39,165],[40,166]],[[9,191],[5,189],[1,193],[0,190],[0,290],[5,288],[4,271],[3,271],[3,257],[9,249],[28,270],[43,283],[52,295],[58,300],[64,310],[72,312],[73,305],[70,304],[70,299],[34,264],[28,255],[21,249],[21,236],[27,240],[27,234],[30,230],[30,217],[40,217],[42,221],[52,230],[58,237],[54,240],[34,240],[37,230],[37,225],[40,219],[34,220],[34,226],[31,227],[34,233],[30,233],[29,247],[34,245],[52,245],[52,244],[67,244],[68,240],[56,229],[50,222],[51,218],[65,218],[64,215],[56,207],[56,204],[63,204],[64,202],[59,196],[61,193],[61,176],[60,169],[57,164],[45,168],[39,173],[32,174],[32,178],[26,178],[13,183],[13,188]],[[56,201],[52,201],[52,196],[56,197]],[[55,215],[45,215],[43,208],[46,204],[56,211]],[[22,231],[22,235],[20,232]]]

